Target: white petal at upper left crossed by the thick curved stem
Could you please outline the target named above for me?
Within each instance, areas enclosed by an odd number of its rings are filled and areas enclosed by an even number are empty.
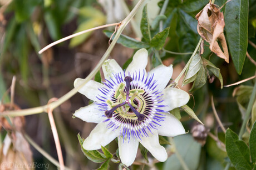
[[[84,81],[85,81],[85,79],[77,78],[74,81],[74,86],[78,87]],[[104,87],[104,86],[105,85],[103,85],[103,84],[100,84],[100,83],[98,83],[96,81],[90,80],[90,81],[88,81],[88,83],[86,83],[84,86],[82,86],[82,88],[80,90],[78,90],[78,92],[80,92],[81,94],[85,95],[90,100],[100,102],[100,100],[97,99],[96,96],[97,95],[102,95],[102,93],[100,92],[99,88],[100,87]]]

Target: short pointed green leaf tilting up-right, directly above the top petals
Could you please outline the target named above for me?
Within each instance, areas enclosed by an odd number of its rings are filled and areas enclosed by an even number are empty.
[[[162,32],[157,33],[151,40],[150,46],[156,50],[160,50],[164,47],[165,40],[168,37],[170,27],[165,28]]]

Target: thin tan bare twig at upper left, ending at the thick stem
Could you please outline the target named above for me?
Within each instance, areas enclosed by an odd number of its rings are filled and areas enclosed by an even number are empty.
[[[38,53],[39,53],[39,54],[42,54],[43,51],[47,50],[48,48],[51,48],[53,45],[56,45],[56,44],[65,42],[66,40],[71,39],[71,38],[73,38],[73,37],[76,37],[76,36],[78,36],[78,35],[85,34],[85,33],[91,32],[91,31],[93,31],[93,30],[101,29],[101,28],[106,28],[106,27],[110,27],[110,26],[115,26],[115,25],[118,25],[118,24],[119,24],[119,23],[101,25],[101,26],[99,26],[99,27],[95,27],[95,28],[91,28],[91,29],[86,29],[86,30],[83,30],[83,31],[81,31],[81,32],[78,32],[78,33],[69,35],[69,36],[67,36],[67,37],[65,37],[65,38],[59,39],[59,40],[57,40],[56,42],[53,42],[53,43],[47,45],[45,48],[41,49]]]

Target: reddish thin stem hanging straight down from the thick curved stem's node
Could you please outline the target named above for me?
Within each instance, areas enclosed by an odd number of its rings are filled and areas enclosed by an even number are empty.
[[[52,101],[56,101],[56,100],[57,100],[57,98],[52,98],[49,100],[48,103],[50,103]],[[50,125],[52,128],[52,134],[53,134],[53,138],[54,138],[55,145],[56,145],[58,161],[60,162],[60,169],[64,170],[65,166],[64,166],[64,161],[63,161],[63,156],[62,156],[62,151],[61,151],[61,143],[60,143],[60,139],[58,138],[58,132],[57,132],[54,118],[53,118],[52,109],[48,110],[48,117],[49,117]]]

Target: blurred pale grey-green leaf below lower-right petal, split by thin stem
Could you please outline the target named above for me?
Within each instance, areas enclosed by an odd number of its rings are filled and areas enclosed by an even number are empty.
[[[200,161],[201,145],[190,134],[174,137],[174,150],[179,152],[180,157],[190,170],[198,168]],[[163,170],[183,170],[177,154],[172,154],[164,163]]]

